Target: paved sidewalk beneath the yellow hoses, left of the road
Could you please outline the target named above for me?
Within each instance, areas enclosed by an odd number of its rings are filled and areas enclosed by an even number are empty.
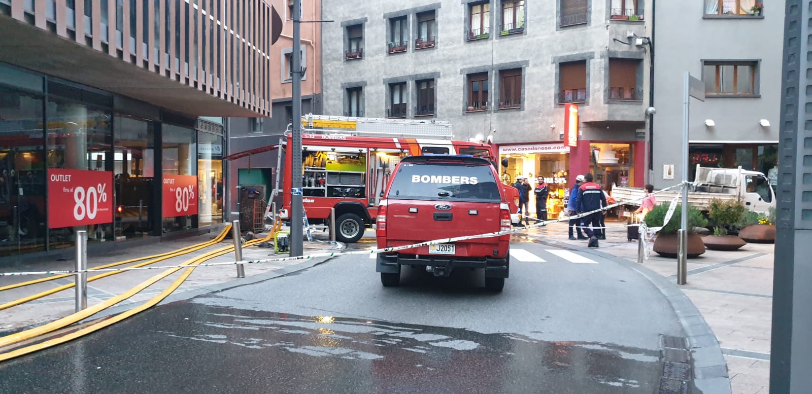
[[[267,233],[258,234],[258,237],[263,238]],[[88,257],[88,267],[93,268],[106,263],[114,263],[127,259],[136,259],[145,255],[158,255],[168,251],[175,251],[184,246],[191,246],[202,242],[209,242],[216,238],[218,233],[206,233],[197,237],[183,238],[175,241],[160,242],[150,245],[149,248],[136,247],[119,251],[117,253],[109,253],[105,255],[92,255]],[[329,234],[320,231],[313,232],[313,242],[304,242],[304,254],[320,253],[325,251],[337,251],[343,249],[343,244],[331,245],[330,243],[322,243],[329,241]],[[194,259],[199,255],[203,255],[208,251],[214,251],[223,246],[231,246],[233,241],[225,239],[214,246],[205,247],[199,251],[193,251],[186,255],[180,255],[171,259],[165,259],[151,264],[152,266],[171,266],[184,263],[190,259]],[[272,245],[272,243],[271,243]],[[250,246],[243,249],[243,259],[273,259],[279,257],[287,257],[287,253],[274,255],[274,249],[261,248],[257,246]],[[130,267],[137,263],[143,263],[148,260],[137,261],[134,263],[127,263],[120,267]],[[227,253],[226,255],[218,256],[213,259],[205,261],[205,263],[219,263],[235,261],[234,252]],[[257,264],[244,264],[245,276],[257,276],[265,272],[272,272],[281,268],[301,263],[301,260],[291,260],[274,263],[257,263]],[[68,270],[74,268],[74,260],[51,260],[51,261],[38,261],[32,263],[25,263],[16,265],[13,268],[3,268],[3,272],[22,272],[22,271],[45,271],[45,270]],[[183,293],[195,289],[201,289],[208,285],[214,285],[222,282],[227,282],[236,279],[236,266],[223,265],[214,267],[201,267],[192,272],[192,275],[180,285],[175,293]],[[112,298],[115,295],[126,292],[128,289],[146,281],[149,278],[156,276],[164,269],[150,269],[150,270],[136,270],[130,272],[121,272],[119,274],[108,276],[97,281],[88,283],[88,306],[93,306],[106,299]],[[143,302],[149,298],[153,298],[156,294],[161,293],[166,286],[175,281],[184,270],[179,270],[170,276],[158,281],[154,285],[137,293],[132,298],[129,298],[118,305],[127,305]],[[93,273],[88,275],[93,276]],[[24,281],[32,281],[39,279],[42,276],[0,276],[0,286],[11,285]],[[0,292],[0,304],[15,301],[19,298],[24,298],[35,293],[40,293],[49,289],[54,289],[60,285],[69,285],[74,281],[73,277],[66,277],[54,281],[47,281],[38,283],[36,285],[28,285],[17,289],[10,289]],[[6,310],[0,310],[0,333],[16,331],[20,328],[47,323],[55,319],[60,319],[64,316],[71,315],[75,308],[74,299],[75,290],[70,289],[51,294],[45,298],[28,302],[19,306],[13,306]]]

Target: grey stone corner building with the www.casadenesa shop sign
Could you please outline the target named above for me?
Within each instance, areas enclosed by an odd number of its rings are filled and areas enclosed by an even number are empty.
[[[553,185],[563,211],[578,173],[642,186],[649,2],[322,0],[324,109],[374,118],[436,118],[456,139],[492,139],[517,175]],[[340,41],[339,41],[340,39]],[[579,140],[564,145],[564,106]]]

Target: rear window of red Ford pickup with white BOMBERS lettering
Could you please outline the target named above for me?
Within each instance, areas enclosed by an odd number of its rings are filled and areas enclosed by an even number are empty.
[[[490,165],[404,163],[395,173],[388,198],[501,202]]]

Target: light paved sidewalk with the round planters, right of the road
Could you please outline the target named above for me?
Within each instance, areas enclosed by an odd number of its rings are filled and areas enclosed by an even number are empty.
[[[624,224],[607,221],[607,227]],[[563,223],[528,229],[525,236],[596,251],[587,249],[586,241],[570,241]],[[623,227],[608,229],[600,246],[598,252],[637,263],[637,241],[628,242]],[[688,260],[688,283],[678,286],[719,340],[732,394],[769,392],[774,249],[773,244],[749,243],[738,251],[707,250]],[[676,259],[652,251],[644,265],[676,283]]]

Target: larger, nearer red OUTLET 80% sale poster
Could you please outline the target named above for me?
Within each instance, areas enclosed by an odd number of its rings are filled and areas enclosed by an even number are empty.
[[[113,222],[113,173],[48,169],[48,228]]]

